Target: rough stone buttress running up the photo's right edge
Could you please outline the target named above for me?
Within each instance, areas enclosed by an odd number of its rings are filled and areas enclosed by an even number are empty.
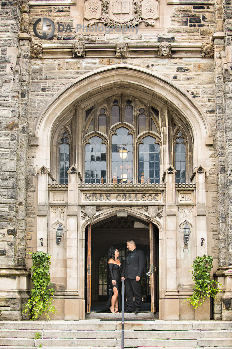
[[[223,0],[216,13],[215,87],[216,87],[216,151],[218,178],[218,242],[219,268],[214,274],[223,284],[223,292],[214,300],[214,319],[232,320],[232,21],[231,2]],[[223,33],[224,31],[224,33]],[[221,36],[217,35],[221,32]],[[221,57],[219,56],[219,52]],[[222,58],[221,64],[219,58]]]

